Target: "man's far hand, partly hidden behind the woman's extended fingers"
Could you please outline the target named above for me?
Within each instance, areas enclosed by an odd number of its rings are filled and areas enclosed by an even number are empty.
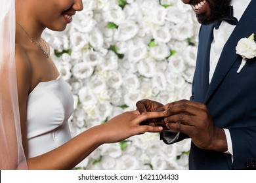
[[[151,101],[149,99],[142,99],[136,103],[137,110],[139,110],[140,114],[142,112],[156,112],[156,111],[163,111],[163,104],[157,101]],[[167,129],[163,118],[152,119],[150,121],[142,122],[140,125],[155,125],[155,126],[162,126],[164,129]]]

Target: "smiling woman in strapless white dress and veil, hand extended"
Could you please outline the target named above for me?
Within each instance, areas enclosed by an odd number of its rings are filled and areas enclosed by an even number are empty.
[[[45,28],[63,31],[83,9],[82,0],[2,0],[1,4],[0,169],[72,169],[101,144],[163,129],[140,125],[163,117],[163,112],[140,115],[134,110],[71,139],[72,93],[41,34]]]

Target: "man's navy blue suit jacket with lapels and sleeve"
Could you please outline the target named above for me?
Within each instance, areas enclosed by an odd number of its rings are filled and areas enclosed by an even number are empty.
[[[248,59],[242,71],[236,73],[242,61],[236,54],[236,45],[252,33],[256,34],[256,0],[251,1],[224,45],[209,84],[213,25],[202,25],[200,29],[190,100],[205,103],[215,125],[229,129],[234,161],[229,154],[202,150],[192,143],[190,169],[246,169],[247,161],[256,161],[256,58]],[[163,136],[161,139],[165,141]]]

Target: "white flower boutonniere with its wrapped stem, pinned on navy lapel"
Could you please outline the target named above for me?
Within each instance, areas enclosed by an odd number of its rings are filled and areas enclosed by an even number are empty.
[[[247,59],[256,57],[256,42],[254,41],[254,35],[255,34],[252,33],[248,38],[242,38],[240,41],[238,41],[238,45],[236,46],[236,54],[242,56],[243,59],[236,73],[240,73]]]

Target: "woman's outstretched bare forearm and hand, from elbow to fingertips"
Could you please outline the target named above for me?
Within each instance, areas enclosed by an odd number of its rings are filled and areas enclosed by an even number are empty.
[[[124,112],[106,124],[84,131],[51,152],[28,159],[28,167],[29,169],[72,169],[101,144],[122,141],[146,131],[161,131],[162,127],[139,125],[143,120],[160,116],[163,116],[162,112],[148,112],[142,115],[137,111]]]

